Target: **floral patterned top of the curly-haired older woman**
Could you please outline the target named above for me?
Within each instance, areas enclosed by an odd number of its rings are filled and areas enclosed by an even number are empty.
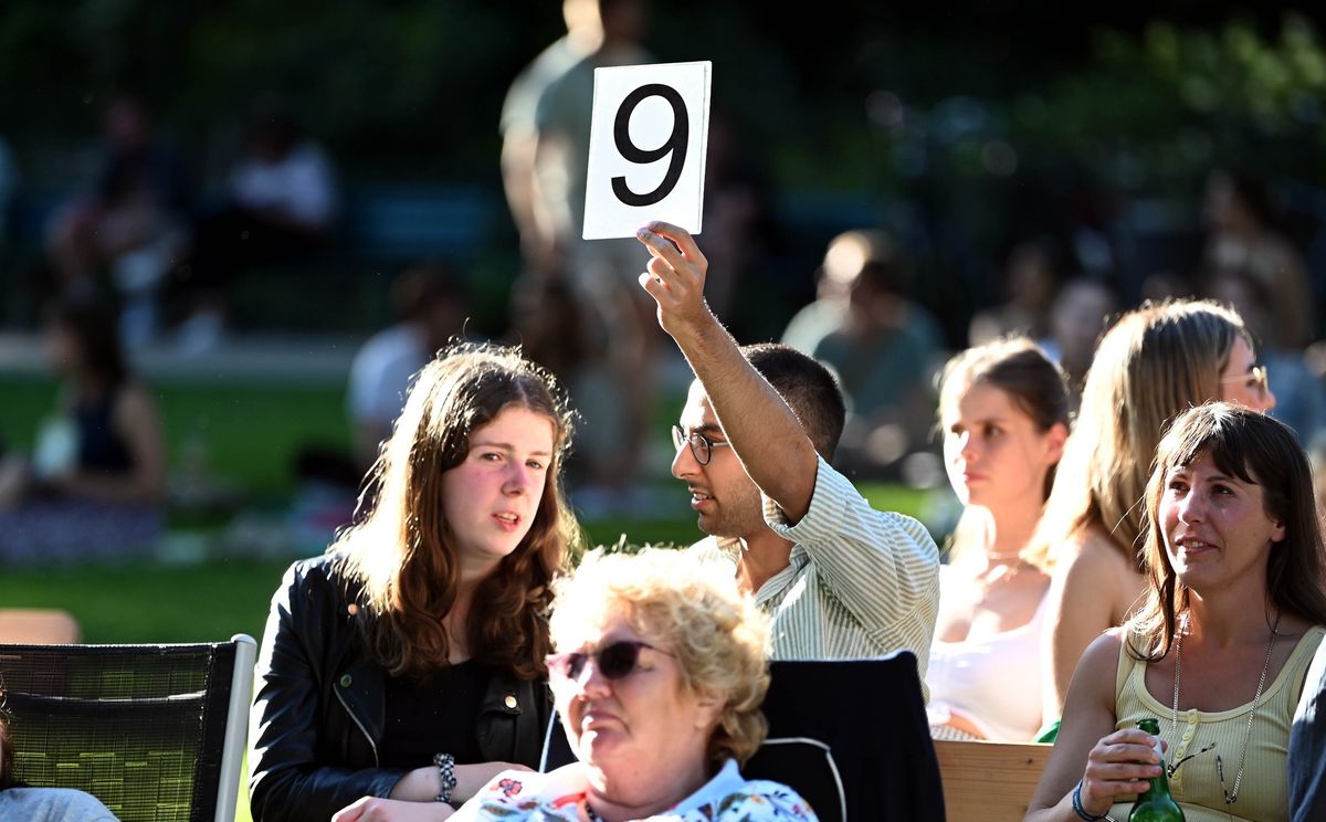
[[[589,782],[579,762],[552,773],[505,770],[465,802],[452,822],[594,822]],[[815,811],[786,785],[747,781],[727,765],[676,806],[636,822],[818,822]]]

